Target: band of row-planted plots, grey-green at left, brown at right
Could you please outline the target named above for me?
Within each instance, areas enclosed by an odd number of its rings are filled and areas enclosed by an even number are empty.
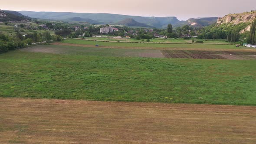
[[[256,51],[209,51],[209,50],[158,50],[158,49],[111,49],[62,45],[33,46],[21,51],[45,52],[83,56],[183,58],[183,59],[256,59]],[[232,56],[231,56],[232,55]]]

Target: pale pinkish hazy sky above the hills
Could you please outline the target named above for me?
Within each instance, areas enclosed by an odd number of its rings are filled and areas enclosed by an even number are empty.
[[[0,9],[176,16],[187,20],[256,10],[256,0],[4,0]]]

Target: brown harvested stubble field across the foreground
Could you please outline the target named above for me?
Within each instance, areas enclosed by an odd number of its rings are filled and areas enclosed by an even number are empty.
[[[256,107],[0,98],[0,143],[256,143]]]

